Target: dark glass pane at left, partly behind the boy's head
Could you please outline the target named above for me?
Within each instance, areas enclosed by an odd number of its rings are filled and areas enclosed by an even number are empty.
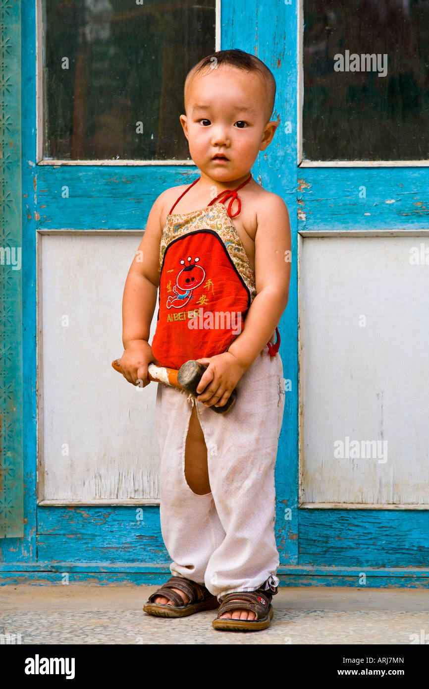
[[[215,5],[43,0],[43,157],[188,159],[183,85],[215,50]]]

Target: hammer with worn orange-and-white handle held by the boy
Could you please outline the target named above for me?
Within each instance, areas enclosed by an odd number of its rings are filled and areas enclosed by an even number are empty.
[[[121,364],[119,363],[120,361],[120,359],[115,359],[112,361],[112,367],[115,369],[115,371],[118,371],[118,373],[122,373]],[[207,366],[205,366],[205,364],[200,364],[200,362],[193,359],[185,361],[178,371],[176,369],[169,369],[167,367],[156,366],[156,364],[150,363],[147,367],[147,378],[149,378],[149,380],[153,380],[154,382],[169,385],[169,387],[176,387],[186,390],[196,398],[198,395],[198,383],[200,382],[202,374],[206,369]],[[214,407],[212,405],[209,407],[209,409],[216,411],[217,414],[224,414],[229,411],[234,404],[236,404],[236,398],[237,391],[233,390],[231,395],[229,395],[227,403],[224,404],[223,407]]]

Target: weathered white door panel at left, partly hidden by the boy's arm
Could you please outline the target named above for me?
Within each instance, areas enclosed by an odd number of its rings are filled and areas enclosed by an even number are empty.
[[[138,389],[111,366],[123,353],[123,287],[140,240],[39,235],[39,500],[158,498],[157,384]]]

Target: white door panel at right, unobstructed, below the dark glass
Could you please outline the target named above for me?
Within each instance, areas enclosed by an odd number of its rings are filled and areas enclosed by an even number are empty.
[[[303,504],[428,502],[429,265],[410,263],[423,239],[300,238]]]

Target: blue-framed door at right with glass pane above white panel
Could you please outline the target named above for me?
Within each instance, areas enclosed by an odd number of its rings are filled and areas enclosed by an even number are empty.
[[[427,585],[429,400],[419,379],[429,371],[417,362],[426,360],[428,17],[410,3],[304,0],[290,25],[302,26],[303,96],[291,132],[300,489],[289,562],[356,586]]]

